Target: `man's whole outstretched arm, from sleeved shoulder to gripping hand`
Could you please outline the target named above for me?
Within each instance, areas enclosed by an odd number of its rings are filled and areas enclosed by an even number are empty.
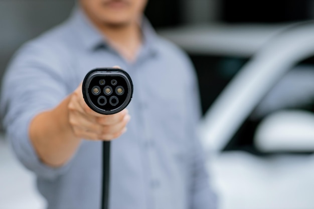
[[[3,80],[0,102],[7,136],[21,162],[43,178],[68,169],[66,162],[82,138],[113,139],[129,120],[126,110],[110,116],[93,112],[81,86],[68,95],[67,82],[77,82],[68,80],[69,59],[30,43],[16,54]]]

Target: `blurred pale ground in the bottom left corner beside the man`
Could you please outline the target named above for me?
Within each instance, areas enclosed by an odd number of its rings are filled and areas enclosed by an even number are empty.
[[[0,208],[45,208],[45,200],[36,190],[34,175],[18,162],[3,134],[0,135]]]

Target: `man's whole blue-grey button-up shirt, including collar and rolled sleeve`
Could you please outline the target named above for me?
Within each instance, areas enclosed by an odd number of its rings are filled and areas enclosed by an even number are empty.
[[[83,140],[64,166],[38,158],[29,139],[30,121],[58,105],[96,67],[120,66],[134,84],[128,130],[111,145],[110,208],[208,209],[210,190],[196,137],[199,98],[187,56],[142,23],[143,45],[125,61],[76,8],[68,21],[26,43],[3,83],[1,109],[13,149],[37,175],[51,209],[98,209],[101,142]]]

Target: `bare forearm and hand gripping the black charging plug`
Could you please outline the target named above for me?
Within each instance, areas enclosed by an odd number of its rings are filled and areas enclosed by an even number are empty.
[[[37,115],[30,125],[30,138],[47,165],[58,167],[75,153],[82,138],[112,140],[126,131],[127,110],[101,115],[84,102],[81,85],[56,108]]]

